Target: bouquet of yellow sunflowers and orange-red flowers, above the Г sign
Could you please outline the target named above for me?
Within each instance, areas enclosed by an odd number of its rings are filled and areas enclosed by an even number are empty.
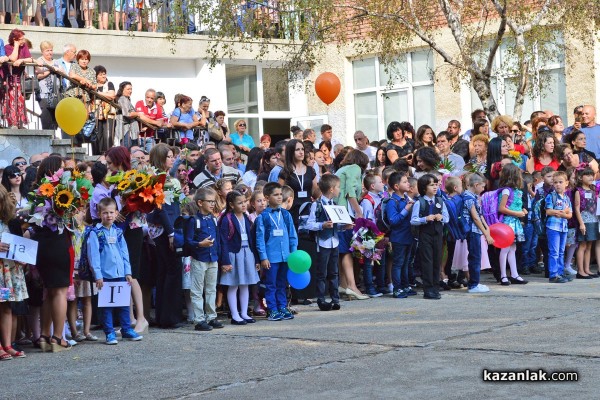
[[[111,175],[106,180],[115,185],[126,212],[149,213],[165,203],[165,173],[153,170],[129,170]]]

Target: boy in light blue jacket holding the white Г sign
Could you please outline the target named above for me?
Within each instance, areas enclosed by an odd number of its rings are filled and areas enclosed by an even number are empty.
[[[131,264],[127,243],[123,239],[123,231],[115,226],[118,215],[117,203],[111,197],[104,197],[98,202],[100,223],[94,226],[87,239],[87,258],[94,271],[96,287],[101,290],[106,282],[125,282],[131,285]],[[131,327],[129,306],[102,307],[98,309],[101,315],[106,344],[117,344],[117,335],[113,327],[113,310],[119,313],[123,339],[139,341],[138,335]]]

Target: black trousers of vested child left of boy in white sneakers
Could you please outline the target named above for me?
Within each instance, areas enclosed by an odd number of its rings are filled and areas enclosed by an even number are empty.
[[[440,266],[442,263],[442,233],[421,232],[419,235],[419,259],[421,279],[425,292],[439,291]]]

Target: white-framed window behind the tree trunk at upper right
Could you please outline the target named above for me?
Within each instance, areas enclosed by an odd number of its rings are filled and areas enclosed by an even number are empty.
[[[535,50],[534,48],[534,55],[538,54]],[[564,41],[561,35],[557,36],[554,43],[547,45],[545,53],[547,53],[547,60],[544,62],[540,62],[537,56],[534,57],[533,70],[536,72],[529,81],[530,88],[525,93],[521,121],[528,120],[531,113],[536,110],[552,110],[560,115],[563,121],[567,120]],[[492,78],[491,86],[498,111],[500,114],[513,115],[517,77],[509,70],[515,70],[516,60],[506,43],[500,46],[494,62],[495,77]],[[483,107],[475,90],[471,89],[471,110],[476,108]]]

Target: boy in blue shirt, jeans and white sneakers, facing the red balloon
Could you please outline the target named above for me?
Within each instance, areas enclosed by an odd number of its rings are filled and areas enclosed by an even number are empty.
[[[480,195],[485,190],[485,178],[479,173],[469,175],[467,190],[464,192],[464,207],[462,216],[470,227],[467,233],[467,247],[469,251],[469,293],[487,293],[490,291],[486,285],[479,283],[481,273],[481,235],[485,236],[488,244],[494,244],[490,230],[481,216]]]

